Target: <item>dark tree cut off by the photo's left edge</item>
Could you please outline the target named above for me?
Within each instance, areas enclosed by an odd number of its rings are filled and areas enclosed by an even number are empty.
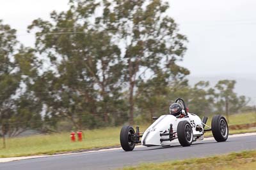
[[[17,63],[13,62],[13,54],[17,39],[15,29],[4,25],[0,20],[0,124],[5,147],[4,136],[9,131],[9,121],[13,114],[13,98],[19,88],[20,76],[15,71]]]

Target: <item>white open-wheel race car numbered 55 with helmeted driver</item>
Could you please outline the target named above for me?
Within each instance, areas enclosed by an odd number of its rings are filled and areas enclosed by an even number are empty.
[[[225,117],[215,115],[209,127],[206,125],[208,118],[203,117],[201,120],[197,115],[189,113],[181,98],[170,106],[170,114],[153,119],[156,121],[145,132],[140,132],[139,127],[134,131],[130,125],[122,127],[120,143],[125,151],[132,151],[138,143],[143,146],[168,146],[179,141],[182,146],[190,146],[194,141],[202,141],[206,131],[212,131],[212,136],[218,142],[228,138]]]

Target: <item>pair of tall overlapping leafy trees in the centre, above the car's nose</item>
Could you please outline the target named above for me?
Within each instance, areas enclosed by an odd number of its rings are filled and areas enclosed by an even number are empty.
[[[76,129],[127,118],[132,124],[134,92],[145,71],[166,85],[189,74],[175,64],[186,37],[164,15],[167,9],[161,1],[71,1],[70,10],[53,11],[51,21],[33,21],[28,29],[39,30],[36,51],[54,67],[33,78],[31,89],[46,106],[47,120],[65,117]],[[160,71],[163,78],[157,78]]]

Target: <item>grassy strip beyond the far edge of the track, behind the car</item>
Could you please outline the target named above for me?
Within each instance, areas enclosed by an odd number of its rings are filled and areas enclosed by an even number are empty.
[[[255,115],[255,113],[232,115],[230,117],[230,125],[256,122]],[[211,124],[211,120],[208,120],[208,124]],[[140,130],[145,131],[147,127],[148,125],[140,126]],[[42,155],[72,150],[90,150],[93,148],[119,146],[120,128],[108,127],[104,129],[86,130],[83,131],[83,141],[75,143],[70,142],[70,132],[24,138],[7,138],[6,148],[2,148],[2,140],[0,139],[0,157]],[[239,132],[256,132],[256,129],[240,129],[230,131],[230,134]],[[211,136],[211,132],[207,132],[205,136]]]

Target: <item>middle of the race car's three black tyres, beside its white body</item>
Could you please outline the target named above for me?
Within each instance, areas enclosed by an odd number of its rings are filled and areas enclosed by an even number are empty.
[[[181,146],[190,146],[193,141],[193,130],[188,121],[179,122],[177,136]]]

